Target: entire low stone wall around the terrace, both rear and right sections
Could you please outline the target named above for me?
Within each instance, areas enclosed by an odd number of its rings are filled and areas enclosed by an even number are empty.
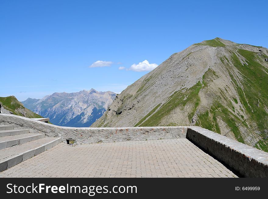
[[[48,137],[61,137],[65,143],[75,140],[77,144],[186,137],[242,176],[268,177],[268,153],[201,127],[61,127],[2,113],[0,124],[30,129],[30,133],[45,133]]]

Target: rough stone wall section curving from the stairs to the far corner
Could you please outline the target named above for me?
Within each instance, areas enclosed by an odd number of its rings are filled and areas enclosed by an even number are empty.
[[[61,137],[75,143],[97,143],[130,140],[157,140],[185,138],[187,127],[61,127],[17,115],[0,113],[0,124],[12,125],[14,129],[30,129],[30,133],[45,133],[48,137]]]

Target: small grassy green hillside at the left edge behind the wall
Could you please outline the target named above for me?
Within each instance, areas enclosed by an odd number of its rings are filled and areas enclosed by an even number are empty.
[[[14,114],[28,118],[42,118],[40,115],[25,108],[15,96],[0,97],[0,113]]]

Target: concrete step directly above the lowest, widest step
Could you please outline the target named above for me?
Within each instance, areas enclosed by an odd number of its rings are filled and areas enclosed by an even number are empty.
[[[26,142],[38,140],[44,137],[45,137],[44,133],[42,134],[41,133],[25,133],[25,134],[19,134],[19,135],[0,137],[0,150],[4,148],[13,147],[16,145],[22,145]]]

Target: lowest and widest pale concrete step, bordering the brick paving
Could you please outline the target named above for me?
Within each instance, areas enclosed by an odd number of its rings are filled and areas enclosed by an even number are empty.
[[[9,169],[62,142],[62,138],[41,138],[0,150],[0,172]]]

